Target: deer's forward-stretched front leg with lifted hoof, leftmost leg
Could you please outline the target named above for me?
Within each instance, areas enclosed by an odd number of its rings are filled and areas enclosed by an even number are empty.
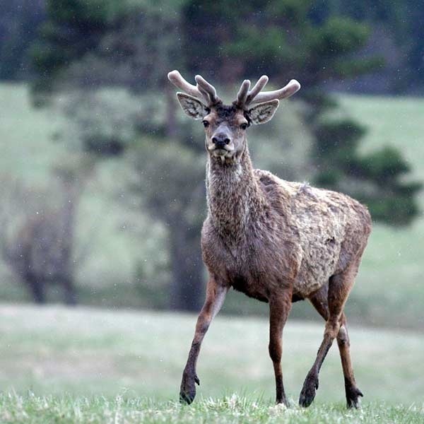
[[[189,358],[182,373],[182,382],[179,390],[179,401],[191,404],[196,396],[196,384],[200,384],[199,377],[196,374],[196,363],[199,356],[201,342],[204,339],[206,331],[213,317],[218,314],[220,307],[223,305],[228,287],[216,282],[211,277],[206,287],[206,300],[201,308],[199,317],[197,318],[196,331],[192,341],[192,347],[189,351]]]

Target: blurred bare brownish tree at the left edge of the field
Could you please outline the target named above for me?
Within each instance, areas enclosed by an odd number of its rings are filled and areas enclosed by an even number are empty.
[[[59,187],[47,192],[9,180],[1,210],[1,255],[35,302],[45,303],[47,285],[58,284],[66,304],[75,305],[76,212],[86,176],[63,168],[55,175]]]

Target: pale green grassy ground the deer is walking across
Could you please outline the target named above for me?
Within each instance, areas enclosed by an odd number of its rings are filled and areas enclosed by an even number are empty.
[[[295,406],[323,325],[289,322],[283,373],[293,406],[273,405],[265,319],[217,317],[194,404],[177,404],[195,317],[88,308],[0,306],[1,423],[422,423],[424,340],[351,329],[362,411],[346,411],[336,346],[307,410]]]

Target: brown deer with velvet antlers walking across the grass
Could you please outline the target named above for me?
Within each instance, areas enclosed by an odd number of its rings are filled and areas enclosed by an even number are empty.
[[[280,100],[295,94],[300,83],[291,80],[279,90],[262,91],[267,76],[252,89],[245,80],[235,100],[225,105],[200,75],[195,86],[179,71],[167,76],[182,90],[177,100],[184,113],[204,125],[207,152],[201,252],[208,283],[182,374],[180,401],[191,404],[196,396],[201,343],[232,288],[269,304],[269,355],[277,404],[289,406],[281,367],[283,328],[292,303],[309,300],[324,318],[325,328],[299,404],[312,404],[319,371],[336,338],[347,407],[359,408],[363,393],[353,373],[344,306],[371,232],[370,213],[346,194],[254,169],[247,144],[249,126],[269,122]]]

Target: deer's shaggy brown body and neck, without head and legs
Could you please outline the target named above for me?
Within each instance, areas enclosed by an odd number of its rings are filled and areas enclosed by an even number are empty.
[[[369,213],[346,195],[252,170],[246,156],[245,169],[208,163],[204,262],[252,298],[268,302],[290,285],[307,298],[362,253]]]

